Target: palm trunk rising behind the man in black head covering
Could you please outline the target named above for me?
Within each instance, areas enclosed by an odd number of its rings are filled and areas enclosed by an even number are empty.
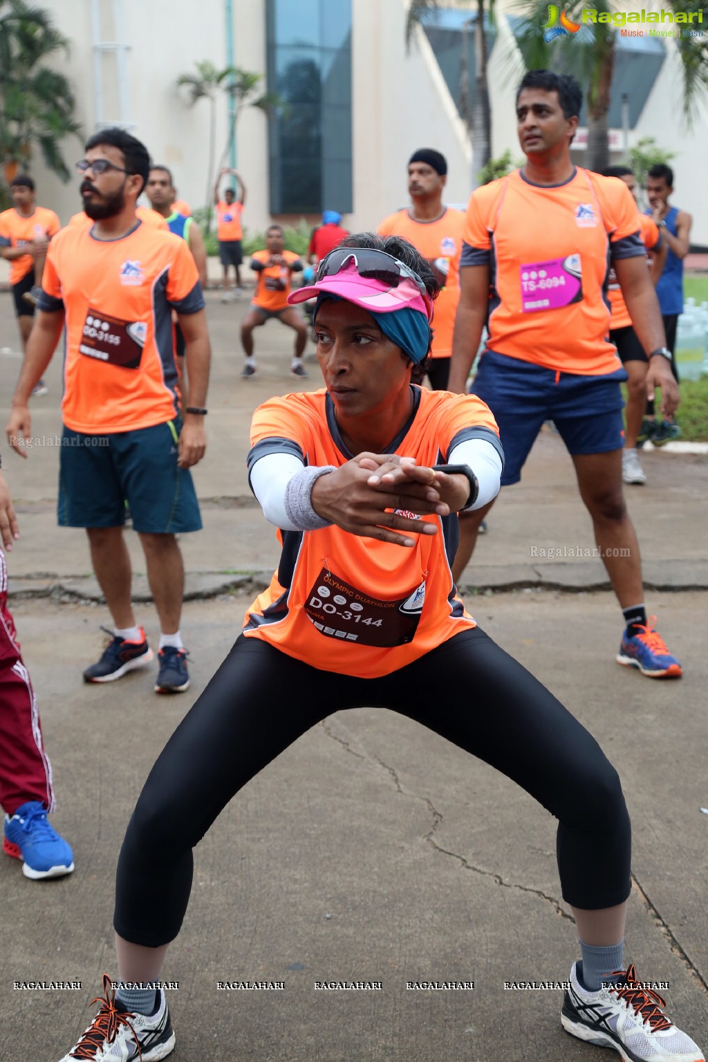
[[[438,11],[438,0],[411,0],[405,19],[405,47],[410,48],[417,25],[434,17]],[[477,0],[477,18],[462,24],[462,56],[460,70],[460,113],[467,125],[472,142],[472,185],[478,181],[474,174],[491,158],[491,108],[487,82],[487,40],[484,35],[485,12],[494,20],[495,0]],[[467,34],[470,23],[474,24],[474,95],[471,96],[469,68],[467,65]]]

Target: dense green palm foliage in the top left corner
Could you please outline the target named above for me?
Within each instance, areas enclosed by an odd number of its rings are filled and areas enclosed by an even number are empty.
[[[79,135],[69,81],[42,65],[69,41],[40,7],[24,0],[0,0],[0,162],[5,181],[19,167],[29,169],[39,147],[50,170],[68,181],[61,141]]]

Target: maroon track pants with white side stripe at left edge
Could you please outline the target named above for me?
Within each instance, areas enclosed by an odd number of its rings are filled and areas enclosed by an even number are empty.
[[[54,809],[52,767],[41,740],[37,700],[7,611],[7,568],[0,549],[0,805],[14,815],[39,801]]]

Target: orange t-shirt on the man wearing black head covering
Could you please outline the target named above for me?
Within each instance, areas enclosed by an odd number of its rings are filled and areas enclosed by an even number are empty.
[[[460,302],[460,255],[465,216],[447,207],[437,221],[414,221],[408,210],[398,210],[379,225],[381,236],[402,236],[427,258],[441,293],[433,315],[433,358],[452,354],[454,316]]]

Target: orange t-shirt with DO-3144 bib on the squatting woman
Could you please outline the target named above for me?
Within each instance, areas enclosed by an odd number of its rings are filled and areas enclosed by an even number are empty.
[[[412,388],[414,408],[387,452],[444,463],[467,439],[498,445],[487,406],[474,395]],[[301,453],[308,465],[340,467],[351,459],[325,390],[272,398],[254,413],[249,469],[259,457]],[[410,515],[410,514],[409,514]],[[448,555],[456,515],[421,517],[435,535],[414,535],[404,549],[332,525],[278,531],[282,555],[271,585],[246,612],[244,636],[261,638],[322,670],[378,678],[410,664],[474,627],[457,597]]]

